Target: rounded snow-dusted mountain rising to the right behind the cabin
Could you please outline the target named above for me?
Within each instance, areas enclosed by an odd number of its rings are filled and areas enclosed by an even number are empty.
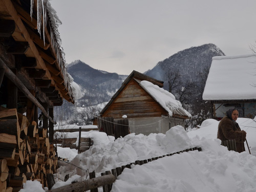
[[[164,81],[166,90],[168,90],[168,80],[165,75],[167,70],[179,69],[183,81],[200,83],[202,74],[211,65],[212,57],[223,55],[225,54],[214,44],[191,47],[159,61],[152,70],[148,70],[144,74]]]

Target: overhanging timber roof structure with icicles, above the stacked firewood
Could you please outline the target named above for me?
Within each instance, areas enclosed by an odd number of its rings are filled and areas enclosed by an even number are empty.
[[[0,105],[30,123],[40,109],[53,142],[53,107],[74,97],[51,9],[48,0],[0,0]]]

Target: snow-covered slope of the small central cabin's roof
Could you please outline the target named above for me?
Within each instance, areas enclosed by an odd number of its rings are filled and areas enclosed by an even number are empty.
[[[182,107],[181,102],[176,100],[172,93],[160,88],[152,82],[146,80],[137,81],[140,83],[140,86],[168,112],[169,116],[172,117],[176,114],[191,117],[191,115]]]

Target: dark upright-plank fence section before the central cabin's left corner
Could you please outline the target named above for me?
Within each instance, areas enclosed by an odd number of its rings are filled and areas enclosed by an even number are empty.
[[[116,139],[130,133],[128,119],[114,120],[113,117],[101,117],[97,118],[97,122],[99,131],[114,136]]]

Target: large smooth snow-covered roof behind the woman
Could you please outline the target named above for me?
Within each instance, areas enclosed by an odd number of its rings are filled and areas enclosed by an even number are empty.
[[[256,99],[256,55],[216,56],[205,84],[204,100]]]

